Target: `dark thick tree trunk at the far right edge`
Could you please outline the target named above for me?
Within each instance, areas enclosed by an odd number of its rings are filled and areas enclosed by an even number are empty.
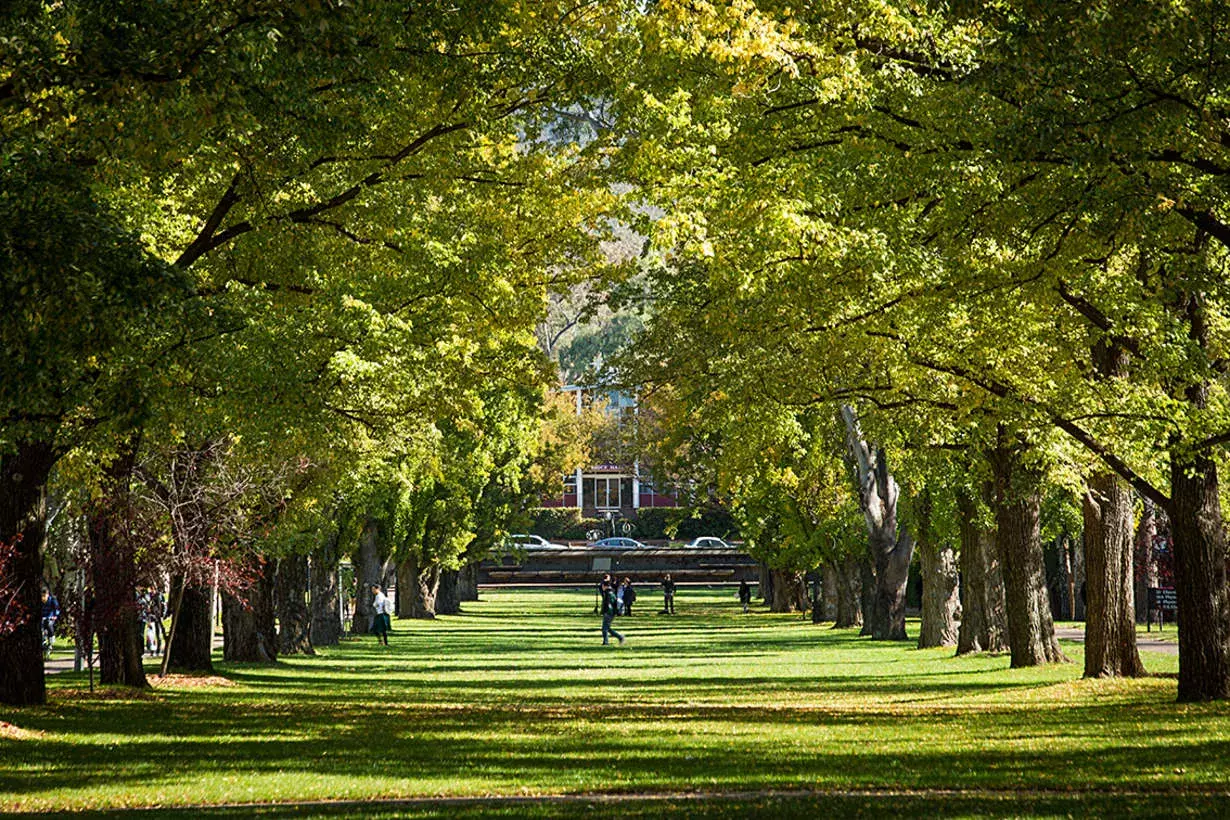
[[[1230,697],[1230,597],[1218,468],[1207,455],[1171,456],[1171,535],[1178,599],[1178,700]]]

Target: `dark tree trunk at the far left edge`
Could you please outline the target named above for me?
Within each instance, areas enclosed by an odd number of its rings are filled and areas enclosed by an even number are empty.
[[[47,478],[54,463],[53,447],[37,441],[20,441],[16,452],[0,455],[0,548],[15,550],[0,578],[0,590],[5,590],[0,612],[11,613],[0,615],[0,702],[14,706],[47,702],[39,550],[47,535]],[[7,631],[9,626],[14,628]]]

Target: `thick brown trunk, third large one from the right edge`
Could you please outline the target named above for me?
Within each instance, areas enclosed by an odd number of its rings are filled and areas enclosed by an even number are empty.
[[[1066,661],[1055,639],[1047,594],[1038,516],[1042,476],[1021,463],[1021,451],[1001,441],[990,454],[995,476],[995,542],[1004,562],[1004,599],[1011,665]]]

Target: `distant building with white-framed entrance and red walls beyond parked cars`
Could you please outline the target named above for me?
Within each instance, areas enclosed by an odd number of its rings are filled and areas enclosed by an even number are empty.
[[[577,414],[587,403],[605,401],[606,414],[617,433],[633,424],[636,398],[620,391],[597,391],[568,385],[561,392],[576,397]],[[542,499],[542,507],[579,509],[582,518],[636,518],[642,509],[678,507],[674,495],[654,486],[653,477],[636,459],[622,460],[621,447],[610,443],[601,447],[605,463],[578,468],[565,476],[560,495]]]

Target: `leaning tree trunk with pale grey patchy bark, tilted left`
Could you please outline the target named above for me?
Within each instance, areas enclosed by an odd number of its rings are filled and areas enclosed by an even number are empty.
[[[859,499],[867,524],[867,547],[876,567],[875,604],[863,628],[877,641],[908,641],[905,634],[905,583],[914,557],[914,538],[897,531],[900,491],[888,471],[883,450],[862,439],[854,409],[844,406],[846,447],[859,478]]]

